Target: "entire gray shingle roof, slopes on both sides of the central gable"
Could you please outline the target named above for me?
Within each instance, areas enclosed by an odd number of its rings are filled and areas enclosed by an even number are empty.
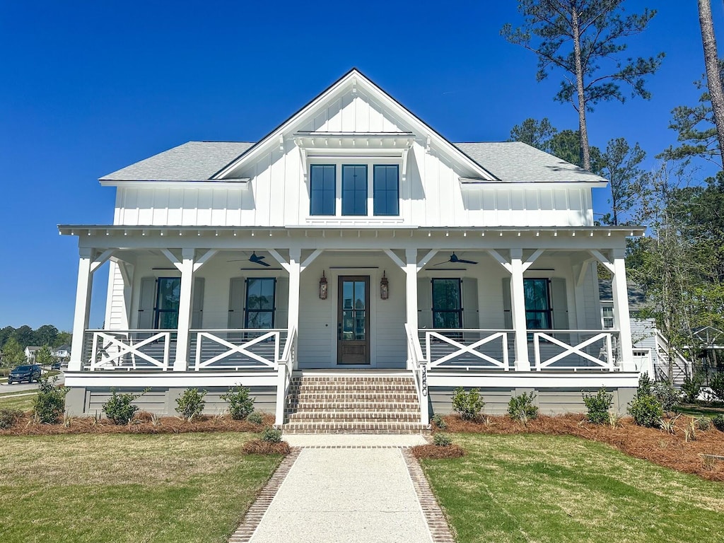
[[[455,143],[460,151],[503,182],[605,182],[518,141]],[[240,156],[253,143],[190,141],[101,177],[107,181],[203,181]]]

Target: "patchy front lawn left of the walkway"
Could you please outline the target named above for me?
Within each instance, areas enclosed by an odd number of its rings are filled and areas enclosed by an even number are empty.
[[[282,459],[252,437],[0,437],[1,539],[225,542]]]

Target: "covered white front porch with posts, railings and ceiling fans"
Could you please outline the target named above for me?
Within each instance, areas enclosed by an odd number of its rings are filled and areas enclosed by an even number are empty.
[[[291,375],[305,369],[409,371],[422,407],[436,374],[459,386],[480,372],[549,374],[563,386],[640,366],[623,266],[623,240],[637,232],[61,230],[80,240],[71,387],[101,376],[104,386],[263,381],[283,420]],[[106,261],[105,327],[90,329],[92,277]],[[610,328],[597,264],[614,279]]]

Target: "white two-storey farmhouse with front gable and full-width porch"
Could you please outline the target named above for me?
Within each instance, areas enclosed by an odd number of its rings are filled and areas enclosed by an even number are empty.
[[[112,224],[59,226],[80,248],[72,413],[111,387],[148,388],[158,413],[196,387],[221,410],[243,384],[285,428],[415,429],[455,387],[490,413],[524,391],[581,411],[600,387],[624,411],[636,388],[623,253],[643,231],[594,226],[606,180],[523,143],[450,143],[358,70],[257,143],[185,143],[101,185]],[[105,328],[88,329],[106,261]],[[313,382],[387,384],[348,395],[374,405],[337,405],[342,421],[305,399]],[[396,398],[412,414],[395,418]]]

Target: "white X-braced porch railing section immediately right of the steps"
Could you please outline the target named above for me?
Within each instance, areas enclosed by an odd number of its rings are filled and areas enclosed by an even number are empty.
[[[510,342],[513,330],[502,329],[420,329],[425,345],[424,359],[432,369],[510,370]]]

